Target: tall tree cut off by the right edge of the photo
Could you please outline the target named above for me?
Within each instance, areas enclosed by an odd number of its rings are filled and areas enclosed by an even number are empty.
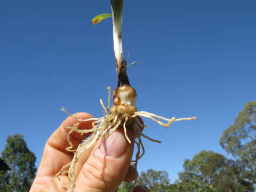
[[[256,184],[256,100],[247,103],[223,132],[220,145],[245,167],[244,175]]]

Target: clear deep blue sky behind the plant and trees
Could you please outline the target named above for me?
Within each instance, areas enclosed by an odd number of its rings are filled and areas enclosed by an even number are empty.
[[[222,132],[256,95],[256,2],[124,1],[123,46],[137,107],[165,117],[197,116],[165,129],[148,119],[138,171],[166,170],[172,181],[201,150],[225,154]],[[115,87],[109,1],[0,2],[0,151],[23,134],[39,165],[44,143],[70,113],[102,116]]]

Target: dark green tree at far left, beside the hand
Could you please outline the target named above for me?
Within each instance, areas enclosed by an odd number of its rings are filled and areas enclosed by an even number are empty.
[[[0,191],[27,192],[35,178],[36,157],[20,134],[10,135],[6,139],[2,159],[9,165],[10,170],[0,171]]]

